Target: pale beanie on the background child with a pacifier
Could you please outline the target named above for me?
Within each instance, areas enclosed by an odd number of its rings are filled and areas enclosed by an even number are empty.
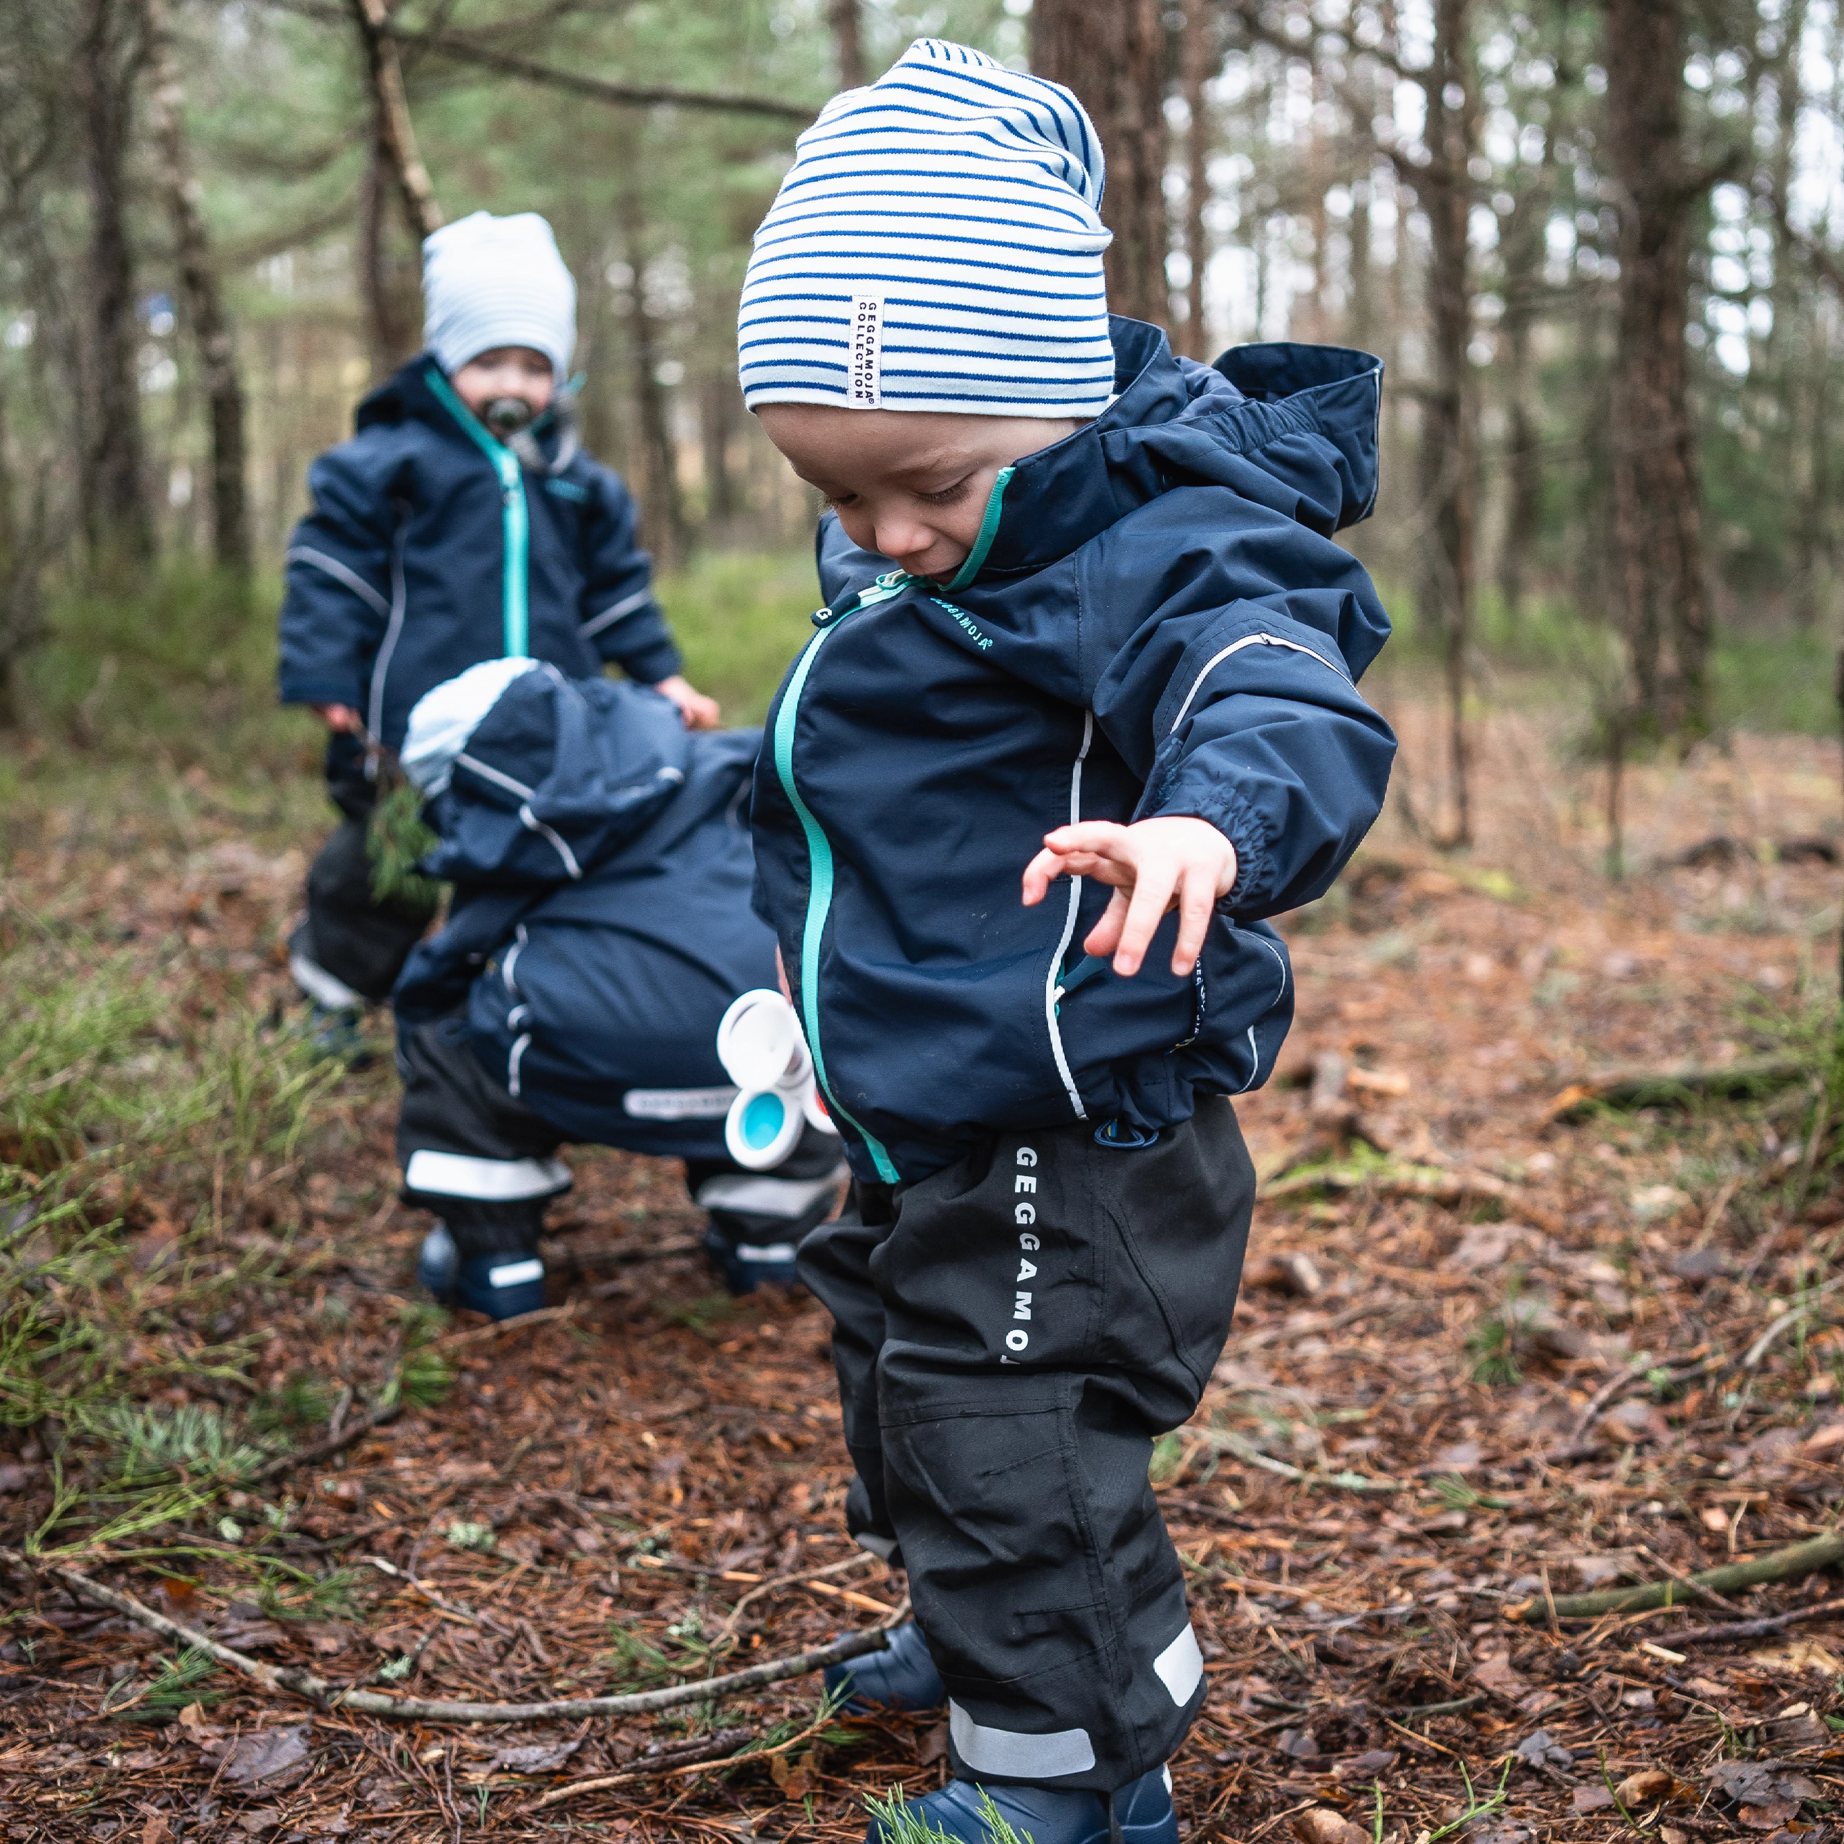
[[[562,384],[575,352],[575,278],[537,212],[474,212],[422,240],[422,343],[452,378],[494,347],[524,345]]]

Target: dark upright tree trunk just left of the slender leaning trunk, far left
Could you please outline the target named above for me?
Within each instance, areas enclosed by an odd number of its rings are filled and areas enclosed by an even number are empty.
[[[77,457],[83,535],[94,562],[153,557],[136,372],[135,256],[127,242],[127,144],[146,42],[127,0],[85,0],[72,68],[89,199],[89,441]]]

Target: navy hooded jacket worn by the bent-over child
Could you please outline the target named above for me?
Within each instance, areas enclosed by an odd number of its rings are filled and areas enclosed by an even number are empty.
[[[474,1055],[564,1140],[723,1158],[717,1022],[774,985],[743,804],[758,730],[693,736],[658,692],[514,679],[428,806],[446,926],[398,1029],[465,1009]]]

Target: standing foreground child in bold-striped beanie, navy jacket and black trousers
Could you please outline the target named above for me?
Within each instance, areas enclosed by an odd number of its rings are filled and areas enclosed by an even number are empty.
[[[833,1678],[946,1702],[953,1768],[874,1840],[983,1840],[987,1794],[1036,1844],[1178,1837],[1206,1678],[1147,1462],[1230,1330],[1228,1097],[1293,1011],[1265,918],[1394,749],[1333,542],[1379,365],[1110,319],[1101,183],[1068,90],[924,39],[800,136],[741,299],[745,398],[830,507],[751,808],[856,1176],[798,1265],[848,1527],[916,1610]]]

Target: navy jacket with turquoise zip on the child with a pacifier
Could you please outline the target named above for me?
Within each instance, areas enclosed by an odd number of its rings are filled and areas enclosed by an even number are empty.
[[[349,704],[396,749],[417,699],[479,660],[679,671],[627,489],[555,426],[538,446],[542,474],[426,352],[358,406],[354,437],[308,468],[313,511],[288,546],[284,704]]]

